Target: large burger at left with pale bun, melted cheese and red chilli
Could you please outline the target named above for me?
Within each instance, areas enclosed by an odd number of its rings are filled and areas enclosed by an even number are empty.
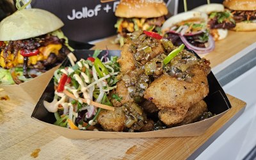
[[[20,84],[60,64],[73,49],[63,22],[40,9],[18,10],[0,22],[0,84]]]

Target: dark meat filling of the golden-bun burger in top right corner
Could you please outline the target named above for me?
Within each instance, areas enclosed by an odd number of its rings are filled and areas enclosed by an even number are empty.
[[[242,22],[244,20],[255,20],[256,19],[256,10],[253,11],[239,11],[239,10],[233,10],[231,11],[233,14],[234,20],[236,22]]]

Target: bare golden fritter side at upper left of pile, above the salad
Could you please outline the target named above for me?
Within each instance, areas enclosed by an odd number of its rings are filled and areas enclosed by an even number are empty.
[[[127,43],[123,46],[121,56],[117,60],[117,62],[120,64],[120,71],[123,74],[126,74],[136,68],[134,56],[132,52],[129,51],[130,45],[131,43]]]

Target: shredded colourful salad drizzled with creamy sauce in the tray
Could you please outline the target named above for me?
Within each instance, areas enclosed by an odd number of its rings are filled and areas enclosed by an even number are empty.
[[[87,60],[54,72],[54,100],[44,101],[54,113],[55,125],[80,130],[96,130],[101,109],[115,110],[108,95],[116,88],[119,65],[116,56],[97,58],[95,51]]]

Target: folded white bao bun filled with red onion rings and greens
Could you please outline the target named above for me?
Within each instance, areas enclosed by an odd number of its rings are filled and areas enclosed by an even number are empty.
[[[163,38],[171,40],[176,46],[184,44],[198,54],[211,52],[214,40],[207,28],[207,17],[206,13],[195,11],[173,15],[161,28]]]

